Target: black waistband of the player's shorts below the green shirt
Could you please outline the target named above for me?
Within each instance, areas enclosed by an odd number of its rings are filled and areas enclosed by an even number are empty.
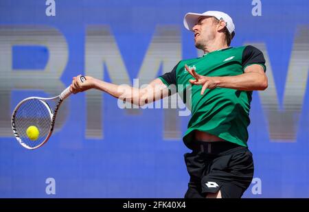
[[[234,149],[234,148],[246,148],[242,145],[236,143],[231,143],[229,141],[215,141],[215,142],[206,142],[206,141],[194,141],[193,150],[198,152],[204,152],[207,154],[220,154],[222,152]]]

